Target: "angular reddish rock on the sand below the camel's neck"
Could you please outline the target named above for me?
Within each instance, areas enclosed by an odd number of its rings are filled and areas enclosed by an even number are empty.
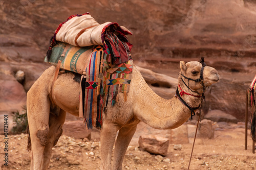
[[[139,137],[139,146],[149,153],[166,156],[169,139],[157,135],[141,135]]]

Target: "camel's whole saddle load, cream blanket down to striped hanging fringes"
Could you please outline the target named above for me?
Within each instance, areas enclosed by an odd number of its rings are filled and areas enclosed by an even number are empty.
[[[79,117],[88,129],[101,128],[102,113],[115,105],[119,92],[126,101],[133,68],[127,34],[132,33],[117,23],[100,25],[86,13],[60,23],[50,41],[45,62],[56,66],[53,84],[59,69],[82,75]]]

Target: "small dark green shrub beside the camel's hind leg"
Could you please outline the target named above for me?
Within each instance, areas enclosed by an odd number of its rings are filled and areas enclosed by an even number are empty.
[[[12,128],[12,132],[14,134],[25,133],[27,126],[28,126],[28,114],[27,114],[27,107],[23,107],[24,112],[23,114],[19,114],[19,111],[12,112],[13,113],[13,123],[14,126]]]

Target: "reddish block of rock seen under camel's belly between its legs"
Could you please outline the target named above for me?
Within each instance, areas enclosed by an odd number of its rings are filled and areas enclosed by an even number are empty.
[[[82,120],[65,122],[62,126],[63,134],[76,139],[91,138],[91,130],[88,130]]]

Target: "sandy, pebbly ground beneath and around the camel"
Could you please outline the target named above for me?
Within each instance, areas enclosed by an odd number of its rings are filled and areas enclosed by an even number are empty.
[[[162,157],[142,151],[136,134],[124,157],[123,169],[187,169],[192,144],[182,144],[180,151],[170,143],[168,155]],[[166,131],[163,131],[166,133]],[[255,169],[256,154],[248,130],[248,149],[245,150],[245,129],[237,124],[216,124],[214,139],[197,139],[189,169]],[[5,143],[1,142],[1,169],[29,169],[31,153],[26,150],[27,134],[9,135],[8,166],[4,165]],[[4,136],[1,135],[1,139]],[[100,142],[74,139],[62,135],[53,148],[49,169],[99,169]]]

